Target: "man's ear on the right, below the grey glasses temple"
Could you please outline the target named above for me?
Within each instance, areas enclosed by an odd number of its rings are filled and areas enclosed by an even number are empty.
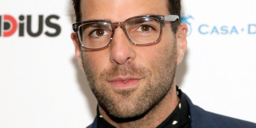
[[[177,39],[177,66],[181,63],[183,55],[187,49],[187,32],[188,26],[185,23],[179,25],[178,31],[176,33]]]

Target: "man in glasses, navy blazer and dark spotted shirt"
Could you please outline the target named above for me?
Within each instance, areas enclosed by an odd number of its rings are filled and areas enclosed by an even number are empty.
[[[256,127],[194,106],[175,86],[187,47],[179,0],[73,0],[75,54],[98,100],[89,128]]]

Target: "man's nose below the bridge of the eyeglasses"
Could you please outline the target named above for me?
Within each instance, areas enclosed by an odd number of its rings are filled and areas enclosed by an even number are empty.
[[[110,62],[123,65],[135,59],[133,45],[121,28],[116,28],[110,44]]]

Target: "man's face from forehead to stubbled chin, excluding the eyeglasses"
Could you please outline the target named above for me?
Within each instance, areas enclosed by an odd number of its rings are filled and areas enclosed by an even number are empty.
[[[80,4],[82,21],[120,22],[137,15],[169,14],[167,2],[159,0],[82,0]],[[81,61],[82,56],[90,88],[108,115],[118,118],[143,115],[168,93],[177,66],[174,37],[170,22],[166,22],[157,44],[135,46],[117,28],[108,48],[81,49],[82,55],[77,58]]]

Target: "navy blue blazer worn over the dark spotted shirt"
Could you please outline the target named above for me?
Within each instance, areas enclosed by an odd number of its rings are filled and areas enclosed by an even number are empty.
[[[190,128],[256,128],[256,124],[252,122],[207,112],[192,104],[188,96],[183,94],[190,110]],[[86,128],[97,128],[97,118]]]

